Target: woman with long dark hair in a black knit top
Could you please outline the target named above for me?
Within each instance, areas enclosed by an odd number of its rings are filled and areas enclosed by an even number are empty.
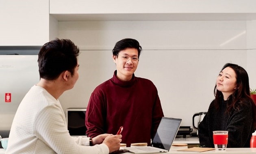
[[[213,131],[228,130],[227,148],[249,148],[256,128],[256,105],[250,97],[245,69],[225,64],[217,77],[214,95],[215,99],[198,126],[200,145],[214,148]]]

